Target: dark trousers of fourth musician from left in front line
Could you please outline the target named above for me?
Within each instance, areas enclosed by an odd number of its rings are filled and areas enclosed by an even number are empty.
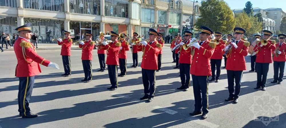
[[[156,70],[142,69],[142,80],[144,94],[149,95],[149,98],[153,98],[156,87]]]

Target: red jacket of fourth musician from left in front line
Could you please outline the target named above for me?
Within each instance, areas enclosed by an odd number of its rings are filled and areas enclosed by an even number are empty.
[[[162,48],[162,45],[157,41],[153,42],[150,45],[150,42],[147,42],[146,46],[138,46],[138,51],[143,51],[141,68],[149,70],[158,69],[158,54]]]

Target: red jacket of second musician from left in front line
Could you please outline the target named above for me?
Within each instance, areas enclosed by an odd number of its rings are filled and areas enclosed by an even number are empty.
[[[84,41],[84,45],[79,44],[78,47],[82,48],[82,60],[92,60],[93,41]]]

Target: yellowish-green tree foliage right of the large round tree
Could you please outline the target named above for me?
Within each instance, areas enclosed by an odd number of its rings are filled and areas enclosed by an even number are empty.
[[[255,32],[262,31],[262,22],[258,21],[258,17],[248,16],[246,13],[235,14],[235,27],[241,27],[246,30],[245,36],[251,36]]]

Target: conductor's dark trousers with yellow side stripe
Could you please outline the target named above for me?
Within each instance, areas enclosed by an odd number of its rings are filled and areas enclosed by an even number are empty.
[[[30,113],[29,101],[32,95],[35,76],[19,77],[18,112],[25,115]]]

